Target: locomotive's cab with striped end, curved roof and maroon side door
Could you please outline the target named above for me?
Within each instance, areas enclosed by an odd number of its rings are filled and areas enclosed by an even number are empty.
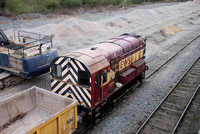
[[[57,57],[51,63],[52,92],[76,99],[79,105],[92,109],[106,95],[109,68],[106,58],[92,50]]]

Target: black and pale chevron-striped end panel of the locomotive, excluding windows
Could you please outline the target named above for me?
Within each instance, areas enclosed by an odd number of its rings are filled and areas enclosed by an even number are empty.
[[[91,107],[91,75],[88,68],[80,61],[67,57],[60,57],[52,65],[60,65],[61,79],[51,79],[51,90],[54,93],[70,97],[79,101],[80,105]],[[89,74],[89,86],[78,84],[78,71],[86,71]],[[52,69],[51,69],[52,71]]]

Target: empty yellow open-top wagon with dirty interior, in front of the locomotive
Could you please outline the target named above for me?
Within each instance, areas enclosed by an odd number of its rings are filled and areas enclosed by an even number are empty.
[[[77,128],[77,101],[32,87],[0,102],[1,134],[68,134]]]

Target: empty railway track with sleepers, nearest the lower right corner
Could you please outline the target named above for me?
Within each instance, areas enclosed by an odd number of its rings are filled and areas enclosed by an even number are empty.
[[[200,58],[195,60],[136,134],[173,134],[199,88]]]

